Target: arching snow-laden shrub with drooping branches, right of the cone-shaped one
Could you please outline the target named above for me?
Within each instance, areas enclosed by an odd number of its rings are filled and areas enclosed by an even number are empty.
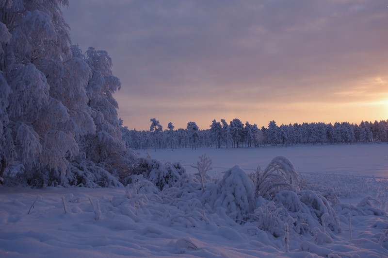
[[[264,172],[259,173],[256,193],[264,198],[272,198],[280,190],[297,191],[298,183],[299,174],[292,162],[284,156],[277,156]]]

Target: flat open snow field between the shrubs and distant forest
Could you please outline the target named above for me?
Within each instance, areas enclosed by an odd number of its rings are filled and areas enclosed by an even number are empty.
[[[301,174],[349,174],[368,177],[374,175],[388,178],[387,143],[137,151],[140,156],[146,153],[164,162],[179,161],[187,172],[197,172],[190,165],[194,165],[198,156],[206,153],[213,161],[213,170],[209,174],[224,172],[234,165],[240,165],[246,172],[253,172],[258,165],[264,169],[275,156],[285,156]]]

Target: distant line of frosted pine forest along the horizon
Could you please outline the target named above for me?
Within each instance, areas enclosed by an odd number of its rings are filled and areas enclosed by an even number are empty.
[[[151,119],[149,131],[129,130],[121,127],[125,144],[130,149],[177,149],[177,148],[239,148],[266,145],[289,146],[295,144],[333,144],[350,142],[388,141],[388,120],[380,122],[362,121],[360,124],[336,122],[333,124],[294,123],[278,126],[274,120],[267,128],[256,124],[245,124],[239,119],[229,123],[222,119],[213,120],[210,129],[199,130],[195,122],[188,122],[187,128],[174,129],[168,123],[167,129],[156,119]]]

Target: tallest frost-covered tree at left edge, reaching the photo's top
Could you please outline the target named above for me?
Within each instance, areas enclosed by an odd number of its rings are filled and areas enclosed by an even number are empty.
[[[82,108],[82,80],[90,71],[82,62],[76,66],[79,60],[71,56],[64,5],[65,0],[1,3],[1,84],[8,92],[9,119],[2,129],[4,150],[12,154],[2,156],[2,167],[22,163],[33,185],[60,184],[80,151],[77,137],[93,127]],[[73,98],[61,94],[64,88]],[[75,122],[79,113],[85,114],[85,124]]]

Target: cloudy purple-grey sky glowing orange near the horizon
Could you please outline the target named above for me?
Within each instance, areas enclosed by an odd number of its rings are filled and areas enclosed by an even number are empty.
[[[387,0],[69,0],[129,129],[388,119]]]

